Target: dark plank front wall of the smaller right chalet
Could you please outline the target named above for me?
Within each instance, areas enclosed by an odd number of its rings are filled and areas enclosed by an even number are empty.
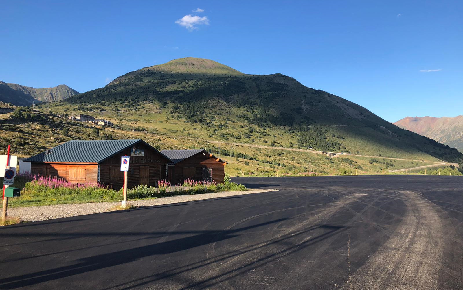
[[[224,182],[225,177],[225,164],[221,161],[217,161],[214,157],[209,157],[209,154],[203,155],[202,152],[195,154],[179,163],[175,164],[172,169],[173,175],[169,177],[172,185],[181,185],[188,177],[183,177],[184,167],[195,167],[196,175],[192,177],[194,180],[202,180],[202,168],[212,167],[212,179],[216,183]]]

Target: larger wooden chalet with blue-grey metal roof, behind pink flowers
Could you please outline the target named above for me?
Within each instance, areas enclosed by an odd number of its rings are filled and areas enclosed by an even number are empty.
[[[31,174],[56,176],[73,183],[98,182],[119,189],[123,185],[121,156],[130,156],[128,188],[156,186],[166,179],[167,165],[173,160],[141,139],[72,140],[32,156]]]

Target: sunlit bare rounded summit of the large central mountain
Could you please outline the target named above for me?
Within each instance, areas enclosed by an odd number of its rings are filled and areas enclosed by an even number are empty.
[[[230,68],[219,62],[210,59],[197,57],[183,57],[171,60],[163,64],[146,67],[142,70],[155,70],[165,73],[182,73],[182,74],[228,74],[244,75],[234,68]]]

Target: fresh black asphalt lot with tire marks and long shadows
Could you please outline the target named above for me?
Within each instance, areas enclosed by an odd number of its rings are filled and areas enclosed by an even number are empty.
[[[0,289],[463,289],[463,177],[237,178],[278,191],[0,228]]]

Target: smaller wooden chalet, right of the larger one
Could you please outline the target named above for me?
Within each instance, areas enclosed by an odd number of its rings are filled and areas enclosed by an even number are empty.
[[[226,162],[204,149],[162,150],[170,160],[167,180],[172,185],[181,185],[185,179],[224,182]]]

